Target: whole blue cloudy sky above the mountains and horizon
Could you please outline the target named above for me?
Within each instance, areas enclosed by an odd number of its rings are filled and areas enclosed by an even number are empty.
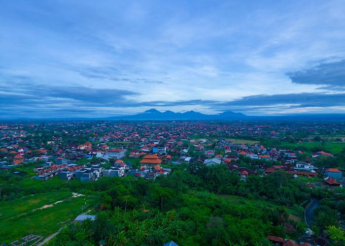
[[[344,0],[0,5],[0,119],[345,113]]]

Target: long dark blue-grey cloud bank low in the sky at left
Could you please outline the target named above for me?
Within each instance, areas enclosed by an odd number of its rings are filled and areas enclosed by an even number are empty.
[[[117,106],[132,104],[128,96],[138,96],[138,92],[118,89],[88,88],[82,86],[49,86],[48,84],[18,83],[11,81],[8,86],[0,86],[1,107],[7,105],[35,106],[37,104],[69,104],[77,106]],[[66,108],[67,109],[67,108]]]

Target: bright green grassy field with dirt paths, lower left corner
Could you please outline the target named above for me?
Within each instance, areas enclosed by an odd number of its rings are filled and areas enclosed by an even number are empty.
[[[55,205],[40,209],[44,205]],[[47,237],[58,231],[64,222],[73,220],[93,207],[96,197],[72,197],[71,192],[51,192],[25,196],[0,204],[0,243],[10,243],[29,234]],[[84,210],[85,212],[85,210]]]

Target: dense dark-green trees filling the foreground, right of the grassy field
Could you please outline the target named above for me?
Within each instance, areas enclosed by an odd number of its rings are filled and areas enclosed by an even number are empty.
[[[226,165],[192,163],[170,177],[152,180],[103,178],[93,183],[69,182],[61,189],[99,195],[99,218],[69,224],[51,244],[268,245],[265,236],[294,237],[305,225],[289,219],[285,206],[308,199],[308,190],[290,174],[276,172],[247,183]],[[233,194],[266,200],[272,206],[232,204],[220,195]],[[248,200],[249,201],[249,200]]]

